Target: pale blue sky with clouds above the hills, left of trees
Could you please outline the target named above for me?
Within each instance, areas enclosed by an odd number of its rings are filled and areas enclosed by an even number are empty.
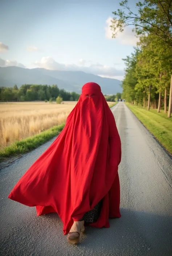
[[[112,0],[0,0],[0,65],[82,70],[122,79],[136,44],[131,28],[111,39]],[[134,7],[136,0],[129,0]],[[3,25],[2,25],[3,24]]]

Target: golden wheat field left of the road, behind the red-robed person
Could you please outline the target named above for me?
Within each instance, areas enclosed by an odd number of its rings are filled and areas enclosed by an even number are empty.
[[[0,103],[0,149],[64,123],[76,103]],[[108,102],[108,105],[111,104],[112,102]]]

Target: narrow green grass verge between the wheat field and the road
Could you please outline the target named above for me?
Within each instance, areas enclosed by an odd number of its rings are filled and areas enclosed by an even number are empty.
[[[36,149],[53,137],[57,136],[63,130],[64,126],[65,124],[54,126],[40,134],[34,135],[33,137],[12,143],[10,146],[0,150],[0,162],[7,157],[22,155]]]

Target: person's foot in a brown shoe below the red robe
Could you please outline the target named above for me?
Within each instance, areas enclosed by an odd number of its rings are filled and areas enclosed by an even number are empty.
[[[81,222],[74,222],[70,232],[67,235],[67,240],[69,244],[78,244],[80,233],[85,231],[84,220]]]

